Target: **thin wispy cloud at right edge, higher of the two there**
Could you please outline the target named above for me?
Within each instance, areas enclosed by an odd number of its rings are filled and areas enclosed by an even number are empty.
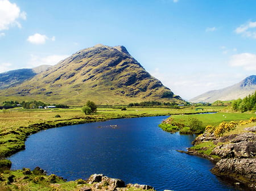
[[[256,28],[256,22],[247,22],[242,24],[240,27],[237,27],[235,32],[242,36],[256,39],[256,30],[254,28]]]

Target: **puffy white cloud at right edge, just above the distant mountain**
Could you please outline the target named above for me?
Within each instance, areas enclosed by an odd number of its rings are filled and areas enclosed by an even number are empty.
[[[230,66],[243,67],[244,70],[256,71],[256,54],[234,54],[229,61]]]

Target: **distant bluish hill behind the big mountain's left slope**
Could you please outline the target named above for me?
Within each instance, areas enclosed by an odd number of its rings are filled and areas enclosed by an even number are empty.
[[[48,67],[50,67],[50,65],[41,65],[33,69],[18,69],[0,73],[0,90],[20,84],[34,77],[36,74],[46,71]]]

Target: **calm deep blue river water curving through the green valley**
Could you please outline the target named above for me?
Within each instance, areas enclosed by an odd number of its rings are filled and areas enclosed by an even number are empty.
[[[39,166],[68,180],[93,173],[148,184],[156,190],[237,190],[210,173],[207,159],[177,152],[191,146],[193,135],[164,132],[167,118],[124,118],[31,135],[26,150],[11,156],[13,169]]]

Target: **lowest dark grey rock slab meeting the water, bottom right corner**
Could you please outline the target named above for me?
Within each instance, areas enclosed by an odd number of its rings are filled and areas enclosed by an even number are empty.
[[[211,172],[240,181],[256,189],[256,159],[221,159]]]

